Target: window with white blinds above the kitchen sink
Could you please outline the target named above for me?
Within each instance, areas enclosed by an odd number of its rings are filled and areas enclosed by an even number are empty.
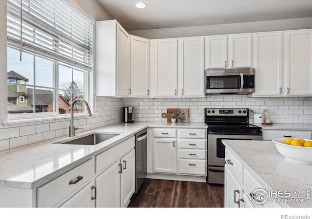
[[[87,99],[93,23],[68,1],[7,0],[7,37],[9,118],[70,113]]]

